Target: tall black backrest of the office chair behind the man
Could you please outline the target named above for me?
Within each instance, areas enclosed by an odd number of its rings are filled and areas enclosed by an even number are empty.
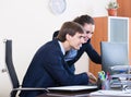
[[[13,88],[20,87],[19,78],[12,60],[12,40],[5,40],[5,64],[13,85]]]

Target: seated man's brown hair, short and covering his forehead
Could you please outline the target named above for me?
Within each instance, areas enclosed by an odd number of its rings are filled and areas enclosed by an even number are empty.
[[[60,41],[64,41],[67,40],[66,38],[67,34],[74,36],[76,33],[83,34],[84,33],[83,27],[79,23],[75,23],[75,22],[66,22],[61,26],[57,38]]]

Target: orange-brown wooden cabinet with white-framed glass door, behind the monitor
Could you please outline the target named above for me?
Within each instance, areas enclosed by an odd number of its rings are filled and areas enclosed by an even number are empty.
[[[94,17],[95,32],[92,37],[92,45],[98,53],[100,53],[100,41],[128,43],[129,61],[131,62],[131,20],[129,17],[119,16],[102,16]],[[97,72],[102,66],[90,61],[90,72],[97,76]]]

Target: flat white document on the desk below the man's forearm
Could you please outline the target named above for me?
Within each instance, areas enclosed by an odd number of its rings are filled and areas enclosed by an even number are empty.
[[[62,90],[62,92],[78,92],[78,90],[97,89],[97,86],[82,86],[82,85],[59,86],[59,87],[48,87],[47,89],[48,90]]]

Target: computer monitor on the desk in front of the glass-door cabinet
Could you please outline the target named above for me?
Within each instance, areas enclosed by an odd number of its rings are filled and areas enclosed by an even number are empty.
[[[128,65],[128,45],[124,43],[100,43],[102,70],[110,74],[115,65]]]

